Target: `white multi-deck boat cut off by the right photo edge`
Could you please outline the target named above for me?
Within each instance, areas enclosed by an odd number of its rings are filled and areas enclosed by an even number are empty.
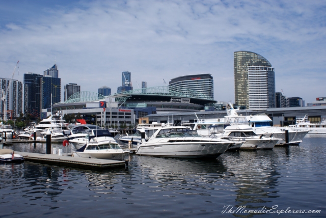
[[[309,130],[308,133],[326,133],[326,122],[311,123],[305,116],[295,120],[294,125],[289,125],[289,128],[299,130]]]

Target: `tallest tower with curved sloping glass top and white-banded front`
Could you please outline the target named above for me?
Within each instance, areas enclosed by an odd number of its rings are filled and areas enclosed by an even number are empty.
[[[261,55],[234,52],[235,104],[240,108],[275,107],[275,72]]]

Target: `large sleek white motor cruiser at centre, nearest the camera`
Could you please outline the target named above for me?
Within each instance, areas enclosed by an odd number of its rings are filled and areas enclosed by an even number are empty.
[[[150,132],[150,129],[148,129]],[[184,126],[161,124],[151,137],[138,146],[136,154],[159,157],[216,158],[230,146],[229,140],[203,137]]]

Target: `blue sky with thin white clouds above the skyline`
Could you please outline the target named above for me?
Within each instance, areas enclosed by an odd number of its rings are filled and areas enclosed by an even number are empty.
[[[276,92],[311,103],[326,97],[326,1],[0,0],[0,77],[58,65],[61,90],[112,93],[209,73],[214,99],[234,102],[234,52],[275,68]],[[164,83],[166,81],[166,84]]]

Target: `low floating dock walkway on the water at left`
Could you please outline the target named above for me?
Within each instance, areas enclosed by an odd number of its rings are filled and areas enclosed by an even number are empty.
[[[112,167],[128,167],[127,160],[106,160],[96,158],[62,156],[58,154],[38,154],[20,151],[15,151],[15,153],[22,155],[25,160],[49,163],[58,166],[71,166],[79,169],[104,170]]]

